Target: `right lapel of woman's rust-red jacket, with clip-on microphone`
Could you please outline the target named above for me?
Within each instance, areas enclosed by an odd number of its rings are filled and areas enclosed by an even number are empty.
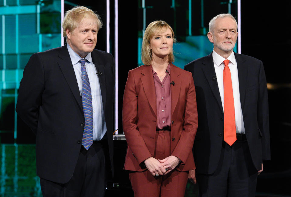
[[[171,82],[174,81],[175,85],[171,86],[171,119],[173,119],[175,108],[177,107],[177,103],[179,100],[180,90],[181,90],[181,84],[182,80],[179,77],[180,72],[177,67],[175,67],[172,63],[170,64],[170,80]]]

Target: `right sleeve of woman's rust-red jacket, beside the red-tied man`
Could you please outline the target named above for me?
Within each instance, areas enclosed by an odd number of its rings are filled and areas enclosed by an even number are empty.
[[[189,75],[189,88],[185,100],[184,130],[182,130],[179,142],[172,153],[173,156],[181,159],[182,163],[186,162],[189,154],[192,154],[192,147],[198,128],[195,85],[190,72]]]

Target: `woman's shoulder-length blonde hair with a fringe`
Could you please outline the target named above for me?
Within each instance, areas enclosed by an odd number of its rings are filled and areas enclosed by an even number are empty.
[[[151,39],[154,37],[155,34],[166,31],[167,28],[171,30],[173,42],[175,43],[176,38],[174,38],[174,31],[171,28],[171,26],[168,25],[165,21],[154,21],[154,22],[151,22],[147,26],[144,32],[144,38],[143,38],[143,43],[141,47],[141,61],[145,65],[151,65],[151,60],[152,60],[152,53],[150,49]],[[175,57],[174,57],[173,49],[172,49],[171,53],[169,54],[169,62],[174,62],[174,61],[175,61]]]

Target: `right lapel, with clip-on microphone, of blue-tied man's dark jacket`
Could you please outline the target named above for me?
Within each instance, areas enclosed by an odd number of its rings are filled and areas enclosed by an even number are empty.
[[[101,71],[101,75],[98,75],[100,89],[101,89],[101,97],[102,97],[102,103],[103,103],[103,109],[105,109],[106,104],[106,69],[103,64],[101,64],[102,61],[99,60],[99,57],[94,53],[94,51],[91,53],[93,64],[96,67],[96,71]]]

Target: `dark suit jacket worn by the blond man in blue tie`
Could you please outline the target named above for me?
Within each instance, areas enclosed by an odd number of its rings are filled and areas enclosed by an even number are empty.
[[[96,49],[91,56],[96,70],[102,72],[99,82],[112,169],[114,60],[111,54]],[[36,134],[37,175],[68,182],[80,153],[85,119],[66,45],[30,57],[20,82],[16,111]]]

